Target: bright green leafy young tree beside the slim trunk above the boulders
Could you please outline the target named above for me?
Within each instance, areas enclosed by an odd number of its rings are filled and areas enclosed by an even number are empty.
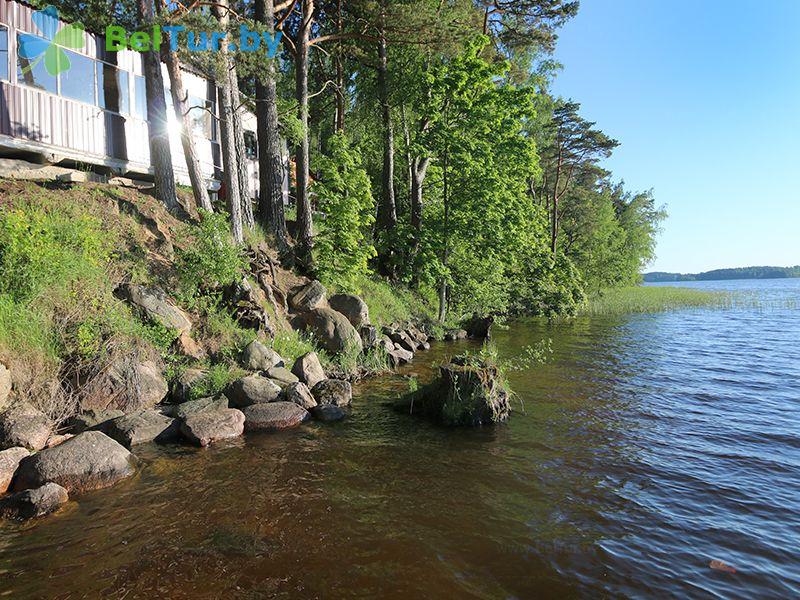
[[[332,136],[328,146],[328,155],[319,160],[321,180],[313,188],[325,213],[316,238],[317,272],[326,285],[353,291],[375,256],[370,241],[374,202],[361,158],[344,135]]]

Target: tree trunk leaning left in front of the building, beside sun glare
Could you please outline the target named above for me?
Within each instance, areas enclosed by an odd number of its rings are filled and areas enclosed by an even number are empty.
[[[158,0],[156,10],[159,14],[166,11],[165,0]],[[189,180],[192,183],[192,193],[194,194],[194,201],[198,208],[213,212],[214,207],[211,205],[211,198],[208,195],[206,187],[206,180],[203,177],[203,171],[200,168],[200,161],[197,159],[197,149],[194,143],[194,133],[192,131],[192,122],[189,118],[189,112],[186,104],[188,95],[183,87],[183,73],[181,73],[181,63],[178,58],[177,52],[170,51],[171,40],[170,34],[166,33],[164,39],[165,48],[164,62],[167,65],[167,73],[169,74],[169,83],[172,94],[172,106],[175,109],[175,118],[181,124],[181,146],[183,147],[183,158],[186,160],[186,169],[189,171]]]

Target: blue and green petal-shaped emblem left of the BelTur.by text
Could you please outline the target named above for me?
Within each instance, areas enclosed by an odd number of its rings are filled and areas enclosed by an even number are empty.
[[[44,39],[32,35],[20,36],[19,55],[33,61],[24,67],[22,72],[27,73],[43,60],[45,69],[50,75],[55,76],[69,70],[72,65],[62,47],[73,50],[83,48],[83,25],[72,23],[59,29],[58,9],[55,6],[34,11],[31,20]]]

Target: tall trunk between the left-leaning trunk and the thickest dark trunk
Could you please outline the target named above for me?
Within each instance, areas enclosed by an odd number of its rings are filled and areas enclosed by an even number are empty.
[[[220,29],[228,30],[227,0],[218,0],[212,9],[219,19]],[[222,63],[222,74],[219,77],[219,107],[220,107],[220,146],[222,147],[222,168],[224,170],[223,182],[231,216],[231,234],[237,244],[244,243],[242,229],[242,201],[239,194],[239,173],[236,157],[236,132],[233,130],[233,102],[231,98],[231,80],[228,76],[230,60],[228,45],[222,43],[219,51]]]

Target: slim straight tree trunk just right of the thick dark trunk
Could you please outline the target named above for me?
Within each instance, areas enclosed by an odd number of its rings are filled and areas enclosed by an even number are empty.
[[[314,15],[314,0],[302,0],[302,23],[297,32],[295,46],[295,95],[298,117],[303,127],[303,135],[295,147],[296,196],[297,196],[297,258],[311,267],[313,247],[311,200],[308,197],[309,149],[308,149],[308,50],[311,21]]]

